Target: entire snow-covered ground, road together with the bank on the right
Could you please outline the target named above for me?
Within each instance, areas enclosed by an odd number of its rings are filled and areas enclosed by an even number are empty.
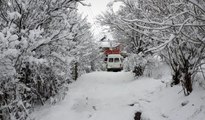
[[[205,91],[185,97],[169,76],[134,78],[130,72],[93,72],[70,84],[62,102],[35,112],[36,120],[204,120]]]

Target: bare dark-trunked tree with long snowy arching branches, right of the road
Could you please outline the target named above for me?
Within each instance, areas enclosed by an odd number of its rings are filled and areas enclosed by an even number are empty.
[[[149,31],[159,45],[147,51],[160,52],[173,70],[173,83],[182,83],[185,95],[192,92],[192,82],[204,60],[204,10],[202,1],[139,1],[144,18],[124,21]],[[200,17],[198,17],[200,16]],[[136,32],[139,29],[132,28]],[[194,31],[194,32],[193,32]]]

